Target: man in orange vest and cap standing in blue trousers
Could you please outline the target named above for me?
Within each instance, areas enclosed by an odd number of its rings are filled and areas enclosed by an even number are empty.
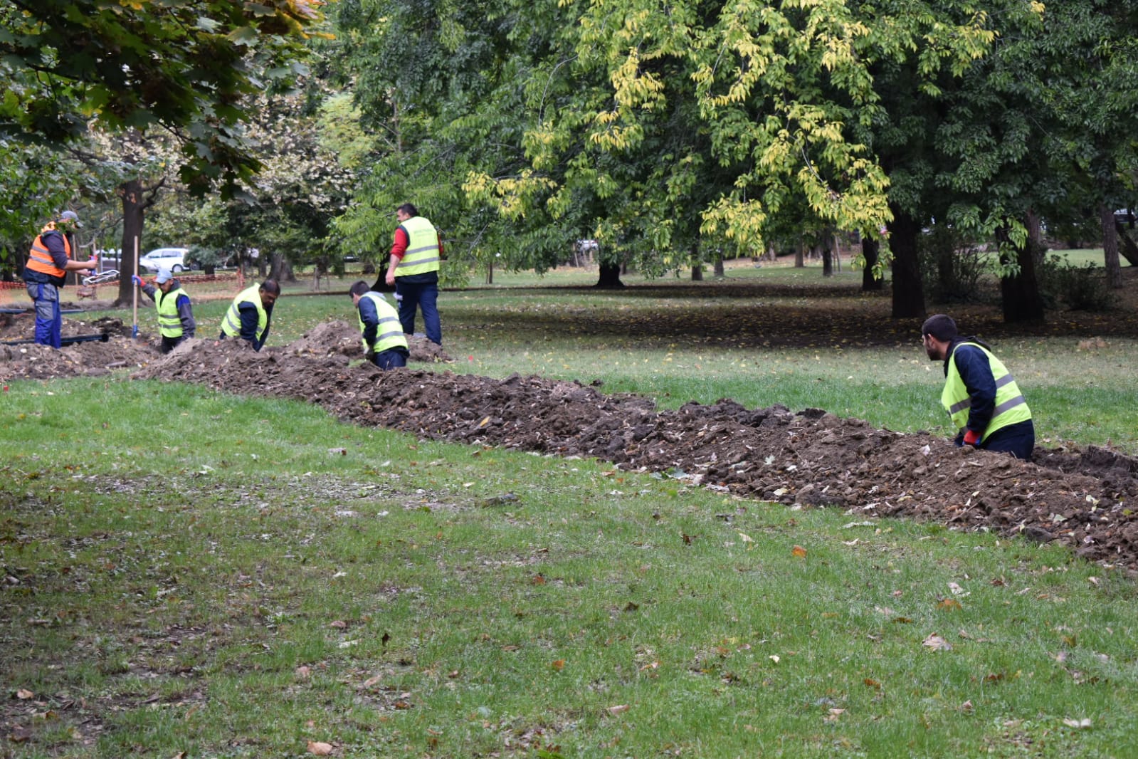
[[[83,226],[74,211],[65,211],[43,225],[32,242],[24,264],[27,296],[35,304],[35,341],[58,348],[63,345],[63,312],[59,288],[67,272],[93,270],[98,259],[75,261],[74,231]]]

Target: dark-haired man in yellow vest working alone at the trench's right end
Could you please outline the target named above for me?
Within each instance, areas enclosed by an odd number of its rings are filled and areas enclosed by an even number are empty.
[[[956,444],[1030,461],[1036,447],[1031,410],[991,348],[974,337],[960,337],[956,322],[945,314],[925,320],[921,339],[930,360],[945,362],[940,403],[958,430]]]

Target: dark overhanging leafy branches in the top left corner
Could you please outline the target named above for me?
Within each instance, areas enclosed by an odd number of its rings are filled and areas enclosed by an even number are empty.
[[[13,2],[0,9],[0,134],[63,143],[93,123],[157,126],[182,145],[181,179],[232,190],[258,167],[241,98],[289,86],[321,19],[307,0]]]

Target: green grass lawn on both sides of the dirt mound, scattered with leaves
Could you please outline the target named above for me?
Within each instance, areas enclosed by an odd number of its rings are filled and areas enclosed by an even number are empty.
[[[941,424],[915,338],[635,328],[731,319],[701,295],[485,288],[440,308],[439,371]],[[346,296],[284,298],[270,344],[328,319],[353,319]],[[1041,437],[1133,452],[1133,348],[998,353]],[[1133,579],[1057,547],[201,387],[17,381],[0,404],[0,756],[1138,756]]]

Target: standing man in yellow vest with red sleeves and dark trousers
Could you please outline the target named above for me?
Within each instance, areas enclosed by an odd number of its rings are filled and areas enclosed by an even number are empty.
[[[438,319],[438,265],[443,259],[443,241],[435,226],[419,215],[419,209],[405,203],[395,209],[399,225],[395,230],[391,257],[387,265],[387,284],[395,287],[403,331],[415,331],[415,308],[423,312],[427,339],[443,345],[443,327]]]

